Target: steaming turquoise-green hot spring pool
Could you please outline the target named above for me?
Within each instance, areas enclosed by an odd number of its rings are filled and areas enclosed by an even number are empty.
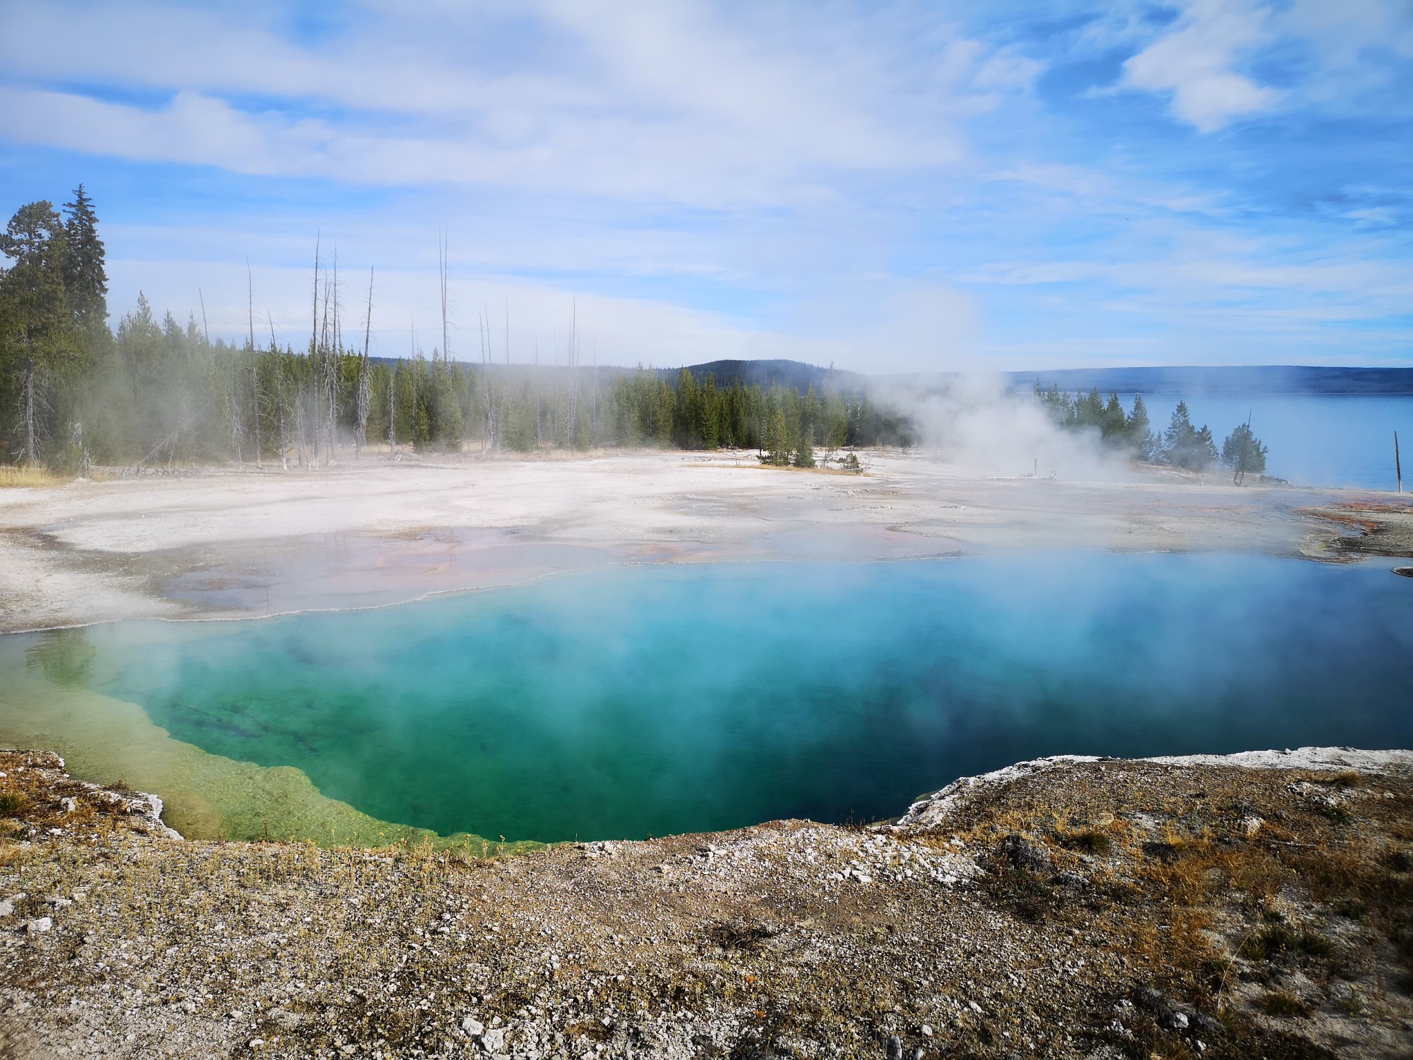
[[[178,739],[492,838],[876,820],[1065,752],[1413,746],[1413,581],[1388,565],[619,567],[86,640],[82,680]]]

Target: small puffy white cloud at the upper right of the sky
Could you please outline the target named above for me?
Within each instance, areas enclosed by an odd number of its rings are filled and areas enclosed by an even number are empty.
[[[1211,133],[1273,107],[1280,93],[1236,72],[1242,52],[1265,42],[1267,11],[1234,0],[1193,0],[1171,33],[1123,64],[1123,83],[1170,92],[1173,113]]]

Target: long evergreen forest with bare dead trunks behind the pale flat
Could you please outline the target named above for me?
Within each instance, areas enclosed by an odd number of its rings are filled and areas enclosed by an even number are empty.
[[[229,459],[325,466],[370,445],[389,455],[657,445],[756,448],[767,464],[814,466],[815,447],[914,442],[907,420],[866,394],[586,367],[572,329],[562,365],[493,362],[486,319],[479,365],[447,356],[445,321],[431,356],[414,336],[408,358],[372,358],[372,277],[366,312],[348,328],[336,261],[318,252],[302,349],[281,346],[268,319],[260,341],[253,305],[243,343],[212,342],[195,314],[158,321],[141,295],[113,332],[82,187],[62,213],[48,202],[17,211],[0,250],[0,444],[16,464],[82,473]],[[444,257],[444,302],[445,290]]]

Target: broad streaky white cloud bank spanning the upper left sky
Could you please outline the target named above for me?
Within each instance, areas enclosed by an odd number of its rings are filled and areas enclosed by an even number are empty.
[[[790,204],[828,198],[835,174],[957,163],[958,120],[1036,71],[945,25],[897,62],[901,27],[725,14],[691,0],[365,8],[301,47],[259,6],[4,6],[0,35],[27,47],[4,58],[0,134],[256,175]]]

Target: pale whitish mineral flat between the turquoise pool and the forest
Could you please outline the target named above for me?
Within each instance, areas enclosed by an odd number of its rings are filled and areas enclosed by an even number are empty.
[[[764,475],[752,452],[653,451],[6,489],[0,632],[356,609],[623,563],[1413,555],[1413,509],[1397,495],[1236,488],[1225,473],[1122,461],[1088,469],[1099,478],[1050,481],[924,452],[863,459],[862,476]]]

